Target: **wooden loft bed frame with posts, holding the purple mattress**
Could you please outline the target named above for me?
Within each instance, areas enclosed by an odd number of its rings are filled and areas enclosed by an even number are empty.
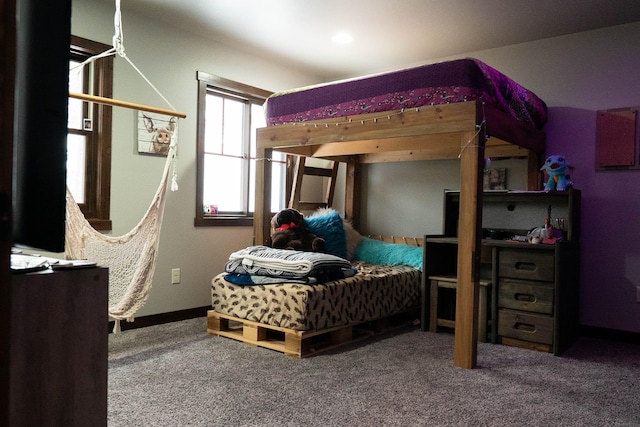
[[[454,365],[477,363],[482,172],[486,157],[527,157],[528,189],[541,188],[544,132],[479,101],[258,129],[255,244],[268,245],[273,151],[346,163],[345,217],[357,229],[360,165],[460,159],[460,223]]]

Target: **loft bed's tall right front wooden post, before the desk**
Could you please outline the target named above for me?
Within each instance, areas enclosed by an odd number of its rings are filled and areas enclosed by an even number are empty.
[[[475,368],[478,356],[478,299],[482,228],[482,169],[485,134],[463,133],[460,153],[460,223],[453,364]]]

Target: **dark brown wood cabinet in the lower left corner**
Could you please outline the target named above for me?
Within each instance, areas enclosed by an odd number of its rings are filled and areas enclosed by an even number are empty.
[[[106,426],[108,269],[14,274],[9,425]]]

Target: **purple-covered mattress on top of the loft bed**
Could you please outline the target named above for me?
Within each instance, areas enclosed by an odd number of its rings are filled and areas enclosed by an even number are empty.
[[[267,124],[479,100],[542,129],[547,106],[533,92],[476,59],[423,65],[273,94]]]

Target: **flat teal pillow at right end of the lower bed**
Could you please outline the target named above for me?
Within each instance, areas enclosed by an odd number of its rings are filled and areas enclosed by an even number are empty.
[[[396,243],[387,243],[365,237],[362,239],[354,259],[380,265],[408,265],[422,270],[422,248]]]

